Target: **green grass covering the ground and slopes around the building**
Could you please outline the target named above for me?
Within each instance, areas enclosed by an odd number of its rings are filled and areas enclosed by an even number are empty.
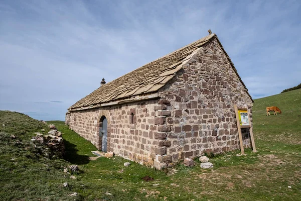
[[[268,106],[277,106],[283,113],[266,116]],[[134,162],[124,167],[127,160],[116,156],[90,161],[91,151],[96,148],[60,121],[49,123],[63,132],[65,160],[41,157],[44,148],[37,151],[32,146],[25,151],[24,146],[28,145],[15,146],[16,140],[5,133],[6,137],[0,139],[0,200],[73,200],[75,197],[69,196],[72,192],[79,193],[77,200],[299,200],[301,117],[298,115],[301,115],[301,89],[255,99],[253,131],[257,153],[246,149],[246,156],[236,156],[239,150],[215,156],[210,159],[213,170],[201,169],[198,160],[192,168],[177,164],[174,174],[170,174],[171,170],[159,171]],[[35,130],[32,128],[30,132]],[[6,132],[18,133],[18,129],[12,127]],[[20,135],[30,136],[29,133]],[[18,163],[11,158],[18,159]],[[69,163],[81,169],[75,180],[63,173],[63,167]],[[143,181],[144,176],[153,177],[154,181]],[[66,181],[70,186],[63,188]]]

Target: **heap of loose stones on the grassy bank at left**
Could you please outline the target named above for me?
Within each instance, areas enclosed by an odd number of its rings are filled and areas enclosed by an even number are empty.
[[[49,125],[49,128],[51,129],[51,131],[48,132],[48,135],[34,133],[36,134],[36,136],[32,138],[32,141],[47,145],[52,150],[52,152],[62,157],[65,153],[62,133],[57,131],[54,125]]]

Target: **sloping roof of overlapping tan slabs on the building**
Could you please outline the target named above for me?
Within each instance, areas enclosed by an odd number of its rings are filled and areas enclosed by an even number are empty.
[[[90,106],[111,102],[113,100],[124,99],[158,91],[158,89],[163,87],[175,76],[176,72],[182,69],[183,65],[198,52],[199,48],[201,48],[213,37],[216,37],[216,35],[208,35],[194,43],[191,43],[102,85],[86,97],[80,99],[68,110],[87,108]],[[231,62],[229,57],[228,59]],[[232,67],[234,68],[234,65],[232,65]],[[234,70],[237,74],[235,68]]]

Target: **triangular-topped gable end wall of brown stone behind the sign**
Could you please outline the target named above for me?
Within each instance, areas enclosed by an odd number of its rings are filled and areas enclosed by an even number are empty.
[[[216,39],[160,89],[160,96],[171,112],[162,134],[170,145],[163,155],[166,162],[239,149],[234,104],[250,113],[253,104]],[[242,132],[244,146],[250,147],[249,129]]]

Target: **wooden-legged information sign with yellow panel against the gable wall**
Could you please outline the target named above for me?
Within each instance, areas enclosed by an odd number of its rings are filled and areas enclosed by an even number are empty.
[[[250,128],[252,149],[253,149],[253,152],[256,152],[253,130],[252,130],[252,126],[251,126],[250,115],[248,113],[248,109],[247,108],[237,108],[237,106],[234,105],[234,111],[235,111],[235,116],[236,116],[236,124],[237,124],[241,154],[243,154],[243,155],[245,154],[243,144],[242,144],[241,128]]]

